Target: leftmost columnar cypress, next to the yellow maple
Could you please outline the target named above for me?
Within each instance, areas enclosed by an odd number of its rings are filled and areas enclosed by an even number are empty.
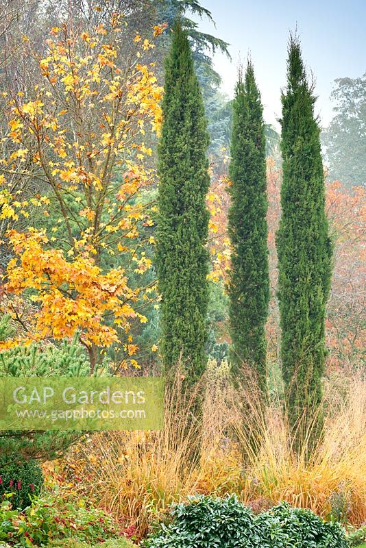
[[[162,112],[156,249],[162,295],[161,349],[165,368],[182,357],[188,381],[193,382],[206,362],[209,138],[191,48],[179,22],[173,26],[165,66]]]

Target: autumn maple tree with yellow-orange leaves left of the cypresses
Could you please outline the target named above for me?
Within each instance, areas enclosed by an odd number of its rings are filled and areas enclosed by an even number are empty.
[[[5,302],[27,295],[35,305],[22,323],[27,332],[4,345],[79,332],[92,370],[113,343],[121,343],[123,366],[137,365],[131,322],[146,321],[134,308],[143,288],[130,288],[125,265],[143,273],[151,263],[140,235],[152,224],[141,193],[154,182],[145,129],[158,132],[162,89],[154,64],[143,64],[154,43],[136,34],[126,55],[123,24],[114,15],[93,32],[51,30],[42,85],[32,97],[8,95],[12,152],[1,160],[0,217],[15,222]],[[154,36],[163,29],[154,27]],[[26,231],[23,218],[32,225]],[[10,312],[17,319],[14,306]]]

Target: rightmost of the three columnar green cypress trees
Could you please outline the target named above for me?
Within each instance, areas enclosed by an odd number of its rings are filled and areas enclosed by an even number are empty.
[[[313,442],[322,425],[321,414],[315,420],[314,413],[321,402],[332,261],[314,103],[300,43],[291,36],[287,89],[282,94],[282,218],[277,234],[281,357],[290,423],[302,436],[313,424]],[[295,439],[299,448],[303,438]]]

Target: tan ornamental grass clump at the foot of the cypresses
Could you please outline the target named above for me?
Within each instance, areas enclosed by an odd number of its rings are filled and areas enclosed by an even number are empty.
[[[140,536],[171,503],[194,493],[236,493],[258,509],[285,500],[359,525],[366,521],[365,379],[348,380],[341,396],[328,384],[324,404],[324,438],[308,460],[292,450],[280,401],[263,408],[254,388],[234,390],[225,364],[211,364],[190,398],[179,386],[171,390],[161,432],[95,434],[62,466]]]

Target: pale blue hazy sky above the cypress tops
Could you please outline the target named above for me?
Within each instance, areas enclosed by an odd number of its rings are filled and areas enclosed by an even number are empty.
[[[330,92],[334,79],[366,72],[366,0],[202,0],[216,22],[199,20],[202,32],[230,43],[232,61],[216,54],[222,90],[233,96],[239,55],[250,51],[265,121],[280,116],[280,89],[286,83],[286,42],[296,27],[306,66],[316,78],[321,124],[332,118]]]

